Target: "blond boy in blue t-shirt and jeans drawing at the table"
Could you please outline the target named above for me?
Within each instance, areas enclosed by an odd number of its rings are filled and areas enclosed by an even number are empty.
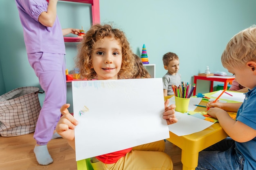
[[[243,103],[207,104],[207,114],[218,119],[229,137],[201,151],[196,170],[256,170],[256,26],[231,38],[221,62],[251,90]],[[237,112],[236,120],[226,110]]]

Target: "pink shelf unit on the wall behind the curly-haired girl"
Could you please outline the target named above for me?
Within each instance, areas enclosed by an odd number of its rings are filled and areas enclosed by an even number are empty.
[[[92,4],[92,24],[99,24],[100,22],[100,14],[99,14],[99,0],[62,0],[69,2],[80,2],[86,4]],[[65,42],[80,42],[82,38],[71,38],[64,37]]]

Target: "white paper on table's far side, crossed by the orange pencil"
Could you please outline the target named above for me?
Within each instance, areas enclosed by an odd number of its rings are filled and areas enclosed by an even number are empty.
[[[223,90],[217,91],[216,93],[214,93],[211,96],[217,98],[222,91]],[[228,95],[227,93],[231,94],[232,96]],[[227,93],[223,93],[220,96],[220,99],[226,99],[226,100],[231,100],[231,101],[236,101],[236,102],[244,102],[244,99],[245,99],[245,94],[244,93],[231,92],[231,91],[227,91]]]

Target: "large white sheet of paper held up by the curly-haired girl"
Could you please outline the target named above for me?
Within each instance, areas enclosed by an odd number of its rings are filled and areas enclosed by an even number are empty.
[[[169,138],[162,78],[74,81],[72,94],[76,161]]]

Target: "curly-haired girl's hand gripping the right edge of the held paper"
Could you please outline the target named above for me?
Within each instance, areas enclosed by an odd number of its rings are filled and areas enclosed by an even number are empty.
[[[165,108],[165,112],[163,113],[163,119],[166,119],[167,124],[174,124],[178,121],[178,119],[175,118],[175,108],[176,106],[174,104],[172,104],[171,106],[168,106],[169,104],[169,99],[167,99],[164,102],[164,108]],[[168,107],[167,107],[168,106]]]

